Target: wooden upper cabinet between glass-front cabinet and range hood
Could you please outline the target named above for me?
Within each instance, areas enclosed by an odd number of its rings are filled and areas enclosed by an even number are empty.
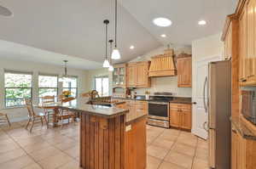
[[[127,87],[150,87],[149,62],[135,62],[127,65]]]

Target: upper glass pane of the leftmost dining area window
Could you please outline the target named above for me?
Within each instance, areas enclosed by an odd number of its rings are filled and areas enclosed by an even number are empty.
[[[4,87],[32,87],[32,75],[4,73]]]

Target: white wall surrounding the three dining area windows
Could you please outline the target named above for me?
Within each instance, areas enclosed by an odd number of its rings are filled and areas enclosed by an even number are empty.
[[[27,61],[17,61],[13,59],[1,59],[0,61],[0,109],[1,112],[7,113],[11,121],[18,121],[25,118],[27,111],[24,108],[4,108],[4,69],[19,70],[19,71],[32,71],[32,97],[33,101],[38,100],[38,73],[49,73],[55,75],[61,75],[64,72],[63,67],[55,65],[38,64]],[[78,76],[78,87],[80,93],[86,92],[86,79],[87,72],[85,70],[76,70],[67,68],[67,74],[69,76]]]

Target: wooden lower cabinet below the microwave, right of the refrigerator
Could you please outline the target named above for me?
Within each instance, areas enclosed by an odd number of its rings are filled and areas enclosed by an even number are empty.
[[[256,141],[246,139],[232,129],[231,133],[231,169],[256,168]]]

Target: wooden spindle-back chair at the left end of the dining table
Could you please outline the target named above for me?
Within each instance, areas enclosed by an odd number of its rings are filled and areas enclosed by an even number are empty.
[[[46,115],[44,113],[38,113],[36,114],[33,105],[32,105],[32,99],[25,99],[26,103],[26,109],[28,111],[28,121],[26,124],[26,129],[29,126],[30,123],[32,123],[32,126],[30,128],[30,132],[32,132],[32,128],[34,127],[35,121],[41,121],[42,127],[44,126],[44,121],[47,123]]]

